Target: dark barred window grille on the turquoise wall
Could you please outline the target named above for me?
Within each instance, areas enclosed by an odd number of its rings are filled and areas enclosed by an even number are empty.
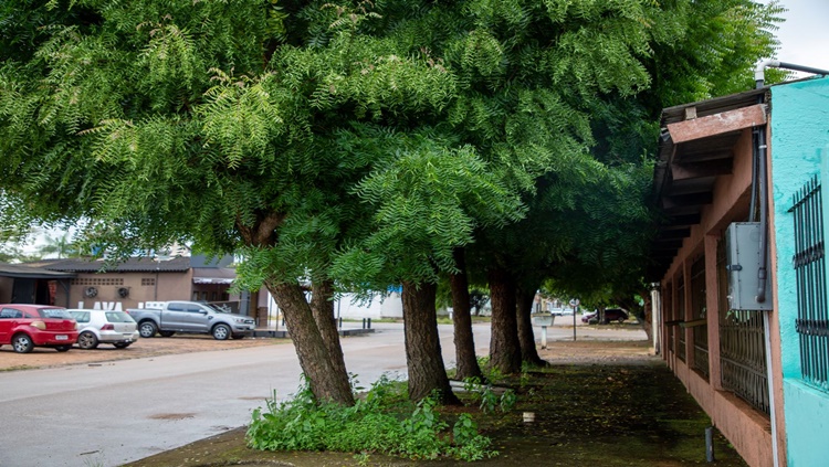
[[[823,254],[823,208],[817,176],[794,195],[794,268],[800,368],[806,383],[829,392],[829,310]]]

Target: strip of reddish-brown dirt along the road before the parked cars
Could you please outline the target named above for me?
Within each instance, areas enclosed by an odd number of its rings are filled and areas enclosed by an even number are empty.
[[[239,340],[216,340],[210,336],[177,335],[169,338],[156,337],[139,339],[126,349],[116,349],[102,343],[94,350],[82,350],[74,346],[69,352],[35,347],[31,353],[15,353],[11,346],[0,347],[0,371],[28,370],[35,368],[62,367],[78,363],[99,363],[114,360],[140,359],[171,353],[232,350],[245,347],[288,343],[285,339],[245,338]]]

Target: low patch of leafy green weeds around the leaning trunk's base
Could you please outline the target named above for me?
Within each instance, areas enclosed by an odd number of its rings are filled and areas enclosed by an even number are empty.
[[[449,425],[437,411],[438,399],[426,397],[412,410],[401,385],[387,378],[372,384],[351,407],[316,404],[307,386],[290,401],[267,401],[248,429],[249,445],[267,450],[337,450],[384,453],[411,459],[492,457],[489,438],[480,435],[469,415]],[[408,413],[408,416],[407,416]]]

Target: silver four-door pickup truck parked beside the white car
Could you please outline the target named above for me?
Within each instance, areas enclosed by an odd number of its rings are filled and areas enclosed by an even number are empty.
[[[143,338],[160,333],[170,337],[176,332],[212,335],[213,339],[241,339],[255,328],[253,318],[223,312],[210,304],[199,301],[165,301],[160,308],[128,308],[138,323]]]

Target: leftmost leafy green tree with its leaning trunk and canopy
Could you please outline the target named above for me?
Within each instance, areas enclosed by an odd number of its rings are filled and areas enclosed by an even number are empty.
[[[351,403],[322,297],[329,255],[360,231],[349,190],[374,161],[337,156],[350,125],[428,117],[451,75],[355,32],[371,17],[359,4],[4,7],[3,24],[29,32],[0,52],[4,219],[88,219],[81,240],[120,255],[172,242],[245,253],[243,282],[273,293],[314,394]]]

